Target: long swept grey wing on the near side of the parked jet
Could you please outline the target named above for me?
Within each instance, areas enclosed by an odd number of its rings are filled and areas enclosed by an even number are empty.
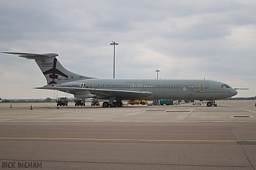
[[[132,91],[132,90],[107,90],[107,89],[95,89],[95,88],[66,88],[66,87],[42,87],[36,89],[45,89],[45,90],[60,90],[66,93],[71,94],[81,94],[83,92],[89,91],[92,95],[108,97],[116,97],[120,99],[129,99],[129,98],[146,98],[153,93],[149,91]]]

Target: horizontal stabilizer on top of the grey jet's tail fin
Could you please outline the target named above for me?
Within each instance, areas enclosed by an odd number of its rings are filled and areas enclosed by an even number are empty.
[[[35,60],[46,59],[46,58],[58,56],[58,54],[56,54],[56,53],[47,53],[47,54],[43,54],[43,55],[24,53],[24,52],[1,52],[1,53],[11,54],[11,55],[19,55],[19,57],[25,57],[27,59],[35,59]]]

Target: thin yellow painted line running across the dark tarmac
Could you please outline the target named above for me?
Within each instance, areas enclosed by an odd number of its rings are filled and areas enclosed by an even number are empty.
[[[231,141],[231,140],[193,140],[193,139],[136,139],[136,138],[0,138],[0,140],[50,140],[50,141],[180,141],[180,142],[203,142],[203,143],[235,143],[235,142],[256,142],[256,141]]]

